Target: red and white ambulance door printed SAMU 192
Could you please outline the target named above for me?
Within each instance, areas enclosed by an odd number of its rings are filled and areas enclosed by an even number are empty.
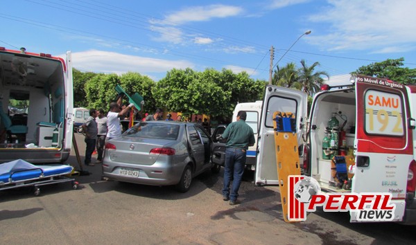
[[[408,168],[413,160],[410,108],[406,88],[390,80],[356,78],[356,168],[352,192],[392,194],[401,221],[405,210]],[[351,221],[359,222],[358,212]]]

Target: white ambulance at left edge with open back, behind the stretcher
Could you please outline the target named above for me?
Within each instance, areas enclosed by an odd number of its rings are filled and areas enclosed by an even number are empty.
[[[0,47],[0,116],[0,163],[66,161],[73,132],[71,53],[63,60]]]

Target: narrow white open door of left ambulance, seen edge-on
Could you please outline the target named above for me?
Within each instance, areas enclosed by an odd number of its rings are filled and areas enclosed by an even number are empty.
[[[62,149],[71,152],[72,136],[73,136],[73,77],[72,77],[72,56],[71,52],[67,52],[66,60],[67,72],[65,73],[65,118],[64,118],[64,145]]]

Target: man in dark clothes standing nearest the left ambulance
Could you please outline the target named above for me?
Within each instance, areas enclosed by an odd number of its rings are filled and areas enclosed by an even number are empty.
[[[94,166],[94,163],[91,163],[91,156],[96,146],[96,139],[97,139],[97,133],[98,133],[97,123],[95,120],[96,116],[97,116],[96,109],[90,109],[89,118],[87,118],[87,120],[85,120],[85,123],[81,125],[81,127],[83,127],[83,130],[85,132],[86,147],[85,147],[84,163],[87,166],[88,165]]]

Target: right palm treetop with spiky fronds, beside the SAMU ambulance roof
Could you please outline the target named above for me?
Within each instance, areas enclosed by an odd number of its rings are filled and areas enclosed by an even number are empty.
[[[299,82],[302,84],[302,91],[307,93],[308,96],[313,96],[324,84],[324,79],[321,76],[324,75],[329,79],[329,75],[325,71],[314,71],[315,67],[320,65],[319,62],[315,62],[311,66],[306,66],[305,63],[305,60],[300,61],[302,67],[298,71]]]

